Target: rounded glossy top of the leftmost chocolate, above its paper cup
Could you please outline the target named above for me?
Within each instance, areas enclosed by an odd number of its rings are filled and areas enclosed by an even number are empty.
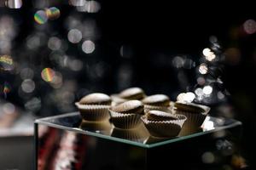
[[[107,94],[88,94],[80,99],[80,105],[111,105],[111,98]]]

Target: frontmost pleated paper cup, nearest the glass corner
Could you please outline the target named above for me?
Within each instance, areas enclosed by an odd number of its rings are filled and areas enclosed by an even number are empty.
[[[142,116],[144,126],[148,129],[151,136],[158,138],[173,138],[178,135],[186,121],[186,116],[177,115],[177,120],[171,121],[148,121],[146,116]]]

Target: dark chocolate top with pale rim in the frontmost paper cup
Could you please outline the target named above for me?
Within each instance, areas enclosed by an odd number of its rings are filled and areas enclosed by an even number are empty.
[[[172,121],[177,120],[177,116],[165,111],[148,111],[146,114],[148,121]]]

